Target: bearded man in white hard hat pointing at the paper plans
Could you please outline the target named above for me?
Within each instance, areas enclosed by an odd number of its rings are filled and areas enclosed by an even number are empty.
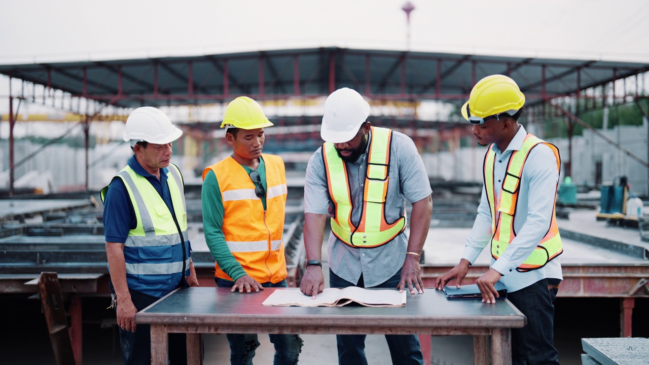
[[[432,214],[430,181],[413,141],[372,127],[369,104],[341,88],[324,102],[321,136],[306,168],[304,246],[308,259],[300,283],[315,297],[324,288],[321,254],[330,219],[329,284],[332,288],[408,288],[424,292],[422,247]],[[406,199],[412,204],[410,237]],[[386,335],[393,364],[423,364],[416,335]],[[337,335],[339,364],[367,364],[365,335]]]

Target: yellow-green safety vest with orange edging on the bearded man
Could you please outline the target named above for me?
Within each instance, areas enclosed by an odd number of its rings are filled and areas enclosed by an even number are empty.
[[[331,218],[331,230],[345,244],[357,248],[378,247],[387,244],[406,229],[406,212],[393,223],[386,222],[385,206],[390,171],[392,131],[372,127],[369,145],[363,210],[358,227],[352,223],[352,198],[345,161],[338,156],[330,142],[323,145],[323,160],[329,185],[329,195],[336,212]]]

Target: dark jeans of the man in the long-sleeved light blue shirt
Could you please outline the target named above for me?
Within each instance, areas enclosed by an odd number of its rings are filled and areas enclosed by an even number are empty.
[[[554,299],[559,279],[543,279],[507,294],[507,299],[528,319],[527,325],[511,330],[511,363],[514,365],[559,364],[554,347]]]

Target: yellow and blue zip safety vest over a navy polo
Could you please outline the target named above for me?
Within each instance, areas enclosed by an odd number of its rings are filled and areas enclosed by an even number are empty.
[[[183,270],[190,268],[190,245],[187,240],[187,213],[182,177],[169,164],[167,185],[175,220],[158,191],[130,166],[117,173],[129,193],[137,225],[124,242],[124,258],[129,288],[156,297],[177,287]],[[109,185],[110,186],[110,185]],[[102,199],[108,186],[102,189]]]

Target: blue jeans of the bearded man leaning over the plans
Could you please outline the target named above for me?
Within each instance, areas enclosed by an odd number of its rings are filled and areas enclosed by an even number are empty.
[[[374,288],[395,289],[401,280],[401,270],[383,284]],[[359,286],[365,288],[363,275],[358,283],[350,283],[342,279],[329,269],[329,286],[332,288],[347,288]],[[338,364],[340,365],[367,365],[365,358],[365,334],[336,334],[338,345]],[[386,334],[387,347],[390,357],[395,365],[424,364],[424,355],[421,353],[419,338],[416,334]]]

